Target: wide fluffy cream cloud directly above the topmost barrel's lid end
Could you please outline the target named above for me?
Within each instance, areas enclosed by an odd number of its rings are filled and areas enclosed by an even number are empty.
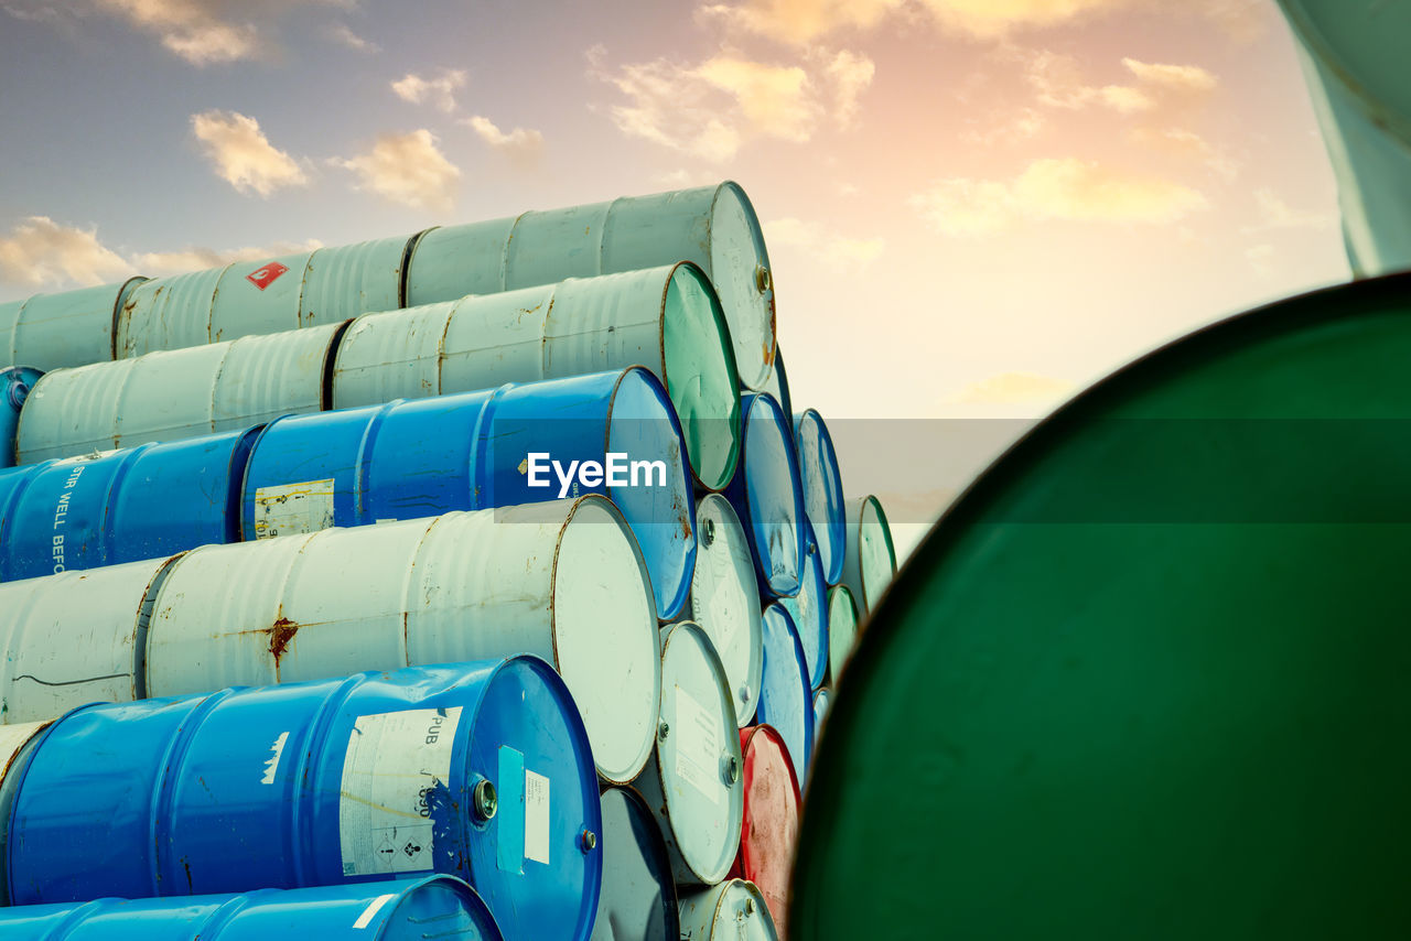
[[[816,52],[803,65],[722,52],[697,65],[659,58],[612,73],[602,56],[601,47],[588,51],[593,73],[626,97],[608,111],[618,130],[710,162],[734,158],[749,140],[804,142],[825,120],[851,126],[876,69],[847,49]]]

